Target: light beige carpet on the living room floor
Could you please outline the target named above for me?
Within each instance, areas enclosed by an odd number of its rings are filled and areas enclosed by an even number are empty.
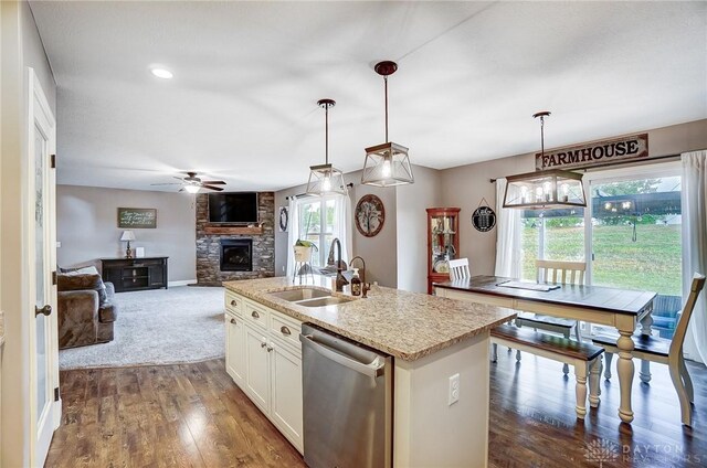
[[[198,362],[224,355],[223,288],[118,292],[115,340],[61,350],[61,370]]]

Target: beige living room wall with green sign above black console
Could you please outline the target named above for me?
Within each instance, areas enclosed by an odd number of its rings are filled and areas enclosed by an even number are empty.
[[[169,280],[197,277],[197,241],[193,196],[184,193],[119,190],[95,187],[56,188],[56,251],[59,265],[94,264],[97,258],[123,257],[126,243],[117,225],[117,209],[157,209],[157,228],[134,230],[131,247],[145,255],[169,257]]]

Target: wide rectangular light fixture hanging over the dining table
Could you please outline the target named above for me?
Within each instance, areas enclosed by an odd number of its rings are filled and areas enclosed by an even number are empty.
[[[550,115],[544,110],[534,114],[540,117],[540,148],[545,157],[545,118]],[[523,210],[546,210],[569,206],[587,206],[582,174],[560,169],[548,169],[506,178],[504,208]]]

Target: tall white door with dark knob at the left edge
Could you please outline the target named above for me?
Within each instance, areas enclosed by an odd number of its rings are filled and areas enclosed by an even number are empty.
[[[59,339],[56,287],[52,273],[56,265],[55,176],[52,155],[55,151],[55,123],[46,97],[29,70],[29,201],[28,245],[31,310],[30,329],[30,415],[31,465],[42,466],[46,459],[53,432],[59,427]]]

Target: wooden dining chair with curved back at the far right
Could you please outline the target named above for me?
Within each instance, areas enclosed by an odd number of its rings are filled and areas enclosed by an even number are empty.
[[[685,343],[685,334],[687,333],[689,319],[693,316],[693,310],[695,309],[695,302],[697,301],[699,291],[701,291],[704,287],[705,276],[698,273],[694,274],[689,296],[687,297],[685,307],[683,307],[680,318],[677,321],[673,340],[652,337],[648,334],[633,336],[633,341],[635,343],[633,355],[635,358],[644,361],[667,364],[671,372],[671,379],[673,380],[673,386],[675,386],[677,397],[680,402],[683,424],[686,426],[692,426],[693,424],[693,407],[690,403],[695,402],[695,391],[693,389],[693,381],[687,372],[687,366],[685,365],[683,344]],[[611,365],[613,354],[619,353],[619,348],[616,348],[616,336],[598,334],[592,338],[592,342],[604,348],[606,351],[606,365]]]

